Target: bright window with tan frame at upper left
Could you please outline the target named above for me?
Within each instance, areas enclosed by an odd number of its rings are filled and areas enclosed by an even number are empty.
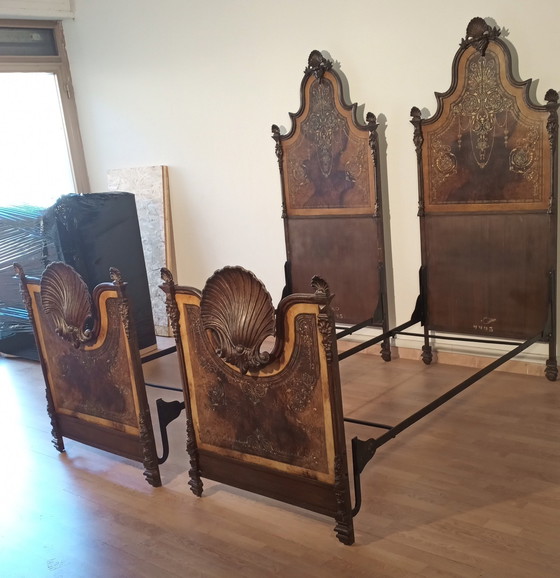
[[[60,23],[0,21],[0,205],[88,191]]]

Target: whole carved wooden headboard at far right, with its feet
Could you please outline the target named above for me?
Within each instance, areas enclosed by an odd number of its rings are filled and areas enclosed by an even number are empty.
[[[499,36],[474,18],[435,115],[411,111],[426,336],[542,333],[554,380],[558,93],[535,104]]]

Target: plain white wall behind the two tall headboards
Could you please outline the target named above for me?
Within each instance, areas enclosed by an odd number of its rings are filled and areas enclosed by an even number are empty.
[[[350,98],[386,126],[395,322],[409,318],[420,266],[409,112],[434,91],[474,16],[495,20],[544,103],[560,89],[557,0],[75,0],[64,22],[92,190],[109,169],[166,164],[180,283],[229,264],[283,285],[280,181],[270,137],[290,128],[312,49]],[[426,116],[425,115],[425,116]],[[390,295],[391,298],[391,295]]]

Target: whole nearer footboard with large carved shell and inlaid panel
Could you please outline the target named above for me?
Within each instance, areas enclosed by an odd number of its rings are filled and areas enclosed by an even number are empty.
[[[193,493],[208,478],[336,520],[351,544],[340,377],[328,286],[285,297],[275,311],[241,267],[202,292],[162,269],[187,409]],[[262,347],[275,337],[274,346]]]

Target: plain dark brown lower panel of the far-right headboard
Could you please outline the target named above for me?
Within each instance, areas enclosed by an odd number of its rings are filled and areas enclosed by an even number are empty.
[[[549,215],[425,221],[430,329],[513,339],[542,331],[551,270]]]

